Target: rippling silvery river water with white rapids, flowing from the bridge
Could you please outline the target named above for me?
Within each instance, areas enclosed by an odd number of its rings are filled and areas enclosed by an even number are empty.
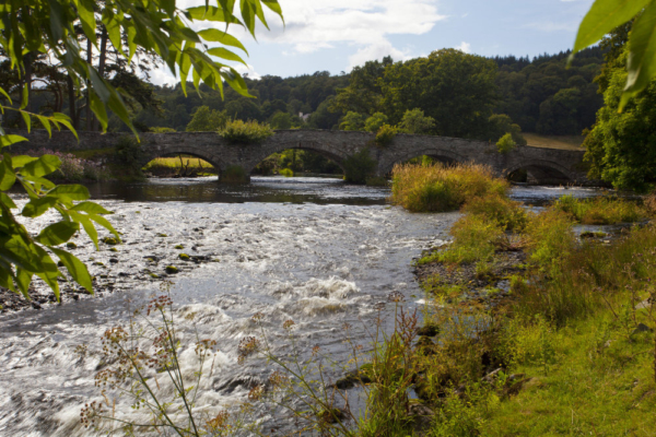
[[[391,292],[401,293],[410,309],[417,307],[421,291],[411,260],[447,239],[458,216],[410,214],[386,203],[386,188],[338,179],[254,177],[247,186],[219,185],[214,178],[159,179],[90,189],[115,212],[110,221],[125,241],[117,251],[106,245],[95,251],[86,237],[77,237],[74,253],[93,263],[98,284],[114,293],[79,300],[65,293],[61,306],[0,316],[0,436],[90,435],[80,425],[80,408],[99,397],[94,387],[99,361],[93,351],[106,329],[125,324],[131,309],[159,293],[166,265],[179,269],[166,279],[173,281],[179,331],[189,340],[183,370],[195,369],[192,326],[220,350],[197,401],[211,412],[245,399],[270,373],[261,361],[237,363],[239,340],[259,334],[254,314],[263,315],[274,353],[289,354],[282,323],[292,319],[301,350],[319,346],[332,359],[345,361],[344,323],[352,338],[366,344],[375,308]],[[513,191],[534,203],[562,193],[597,191]],[[203,262],[183,261],[180,252]],[[394,304],[386,304],[383,312],[391,311]],[[184,317],[190,314],[194,321]],[[86,357],[80,345],[91,351]],[[117,410],[132,414],[127,401]]]

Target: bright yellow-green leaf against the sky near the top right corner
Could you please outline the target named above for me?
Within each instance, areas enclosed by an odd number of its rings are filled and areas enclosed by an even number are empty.
[[[596,0],[578,26],[574,52],[597,43],[604,35],[633,19],[649,1]]]

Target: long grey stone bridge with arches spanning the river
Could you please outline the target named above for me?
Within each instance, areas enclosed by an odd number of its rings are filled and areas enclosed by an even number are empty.
[[[23,134],[28,143],[12,146],[12,153],[33,149],[56,151],[81,151],[114,147],[126,133],[79,132],[77,141],[68,131],[48,133],[34,130],[32,133],[13,130]],[[188,154],[211,163],[221,173],[229,167],[242,167],[246,175],[267,156],[285,149],[301,149],[316,152],[343,168],[344,161],[354,153],[367,149],[377,163],[376,176],[385,176],[397,163],[417,156],[427,155],[445,163],[477,163],[490,166],[501,177],[524,169],[529,178],[538,184],[591,185],[583,166],[584,151],[518,146],[501,154],[496,145],[476,140],[458,138],[398,134],[391,144],[378,147],[370,132],[347,132],[326,130],[280,130],[261,144],[231,144],[214,132],[141,133],[143,165],[155,157]]]

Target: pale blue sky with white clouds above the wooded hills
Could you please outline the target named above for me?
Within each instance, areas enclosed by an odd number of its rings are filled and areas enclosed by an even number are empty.
[[[458,48],[481,56],[554,54],[572,47],[578,23],[594,0],[279,0],[285,25],[267,14],[257,40],[234,27],[246,46],[251,79],[329,71],[350,72],[368,60],[395,61]],[[213,4],[210,1],[210,4]],[[180,7],[204,4],[181,0]],[[209,22],[195,28],[210,27]],[[175,83],[162,68],[154,83]]]

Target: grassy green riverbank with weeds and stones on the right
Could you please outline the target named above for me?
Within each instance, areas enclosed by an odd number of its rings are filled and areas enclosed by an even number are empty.
[[[462,179],[476,182],[452,182]],[[386,404],[405,416],[372,411],[371,435],[654,435],[656,226],[610,241],[573,231],[645,220],[653,199],[566,197],[535,214],[480,168],[397,167],[394,181],[396,203],[410,211],[462,204],[465,215],[450,245],[418,261],[424,327],[401,327],[395,335],[411,342],[378,346],[405,358],[373,385],[393,380],[419,399]],[[413,200],[435,190],[459,201]],[[370,397],[370,409],[379,404]]]

